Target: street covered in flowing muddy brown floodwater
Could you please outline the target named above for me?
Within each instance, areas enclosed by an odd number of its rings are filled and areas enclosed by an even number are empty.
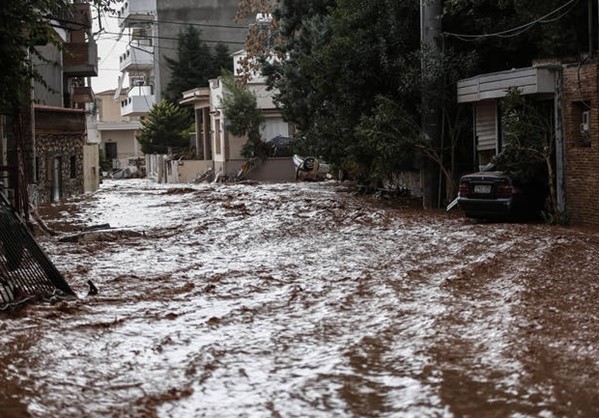
[[[42,215],[143,235],[40,239],[79,299],[0,318],[2,417],[599,416],[594,231],[336,183],[109,181]]]

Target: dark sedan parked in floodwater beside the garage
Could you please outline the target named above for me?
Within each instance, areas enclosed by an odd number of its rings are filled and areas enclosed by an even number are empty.
[[[538,218],[547,193],[543,182],[526,184],[501,171],[465,175],[460,180],[458,204],[469,218]]]

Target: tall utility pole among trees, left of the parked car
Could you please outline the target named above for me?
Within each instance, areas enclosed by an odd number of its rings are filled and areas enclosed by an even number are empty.
[[[423,50],[432,54],[431,57],[422,59],[422,81],[423,81],[423,108],[425,114],[422,115],[422,131],[431,146],[438,146],[441,142],[441,109],[437,105],[430,106],[431,100],[426,97],[430,94],[428,89],[424,89],[424,84],[428,84],[429,78],[427,60],[440,62],[441,60],[441,0],[420,0],[420,43]],[[438,94],[438,92],[437,92]],[[423,199],[422,204],[425,209],[436,206],[437,187],[436,187],[436,166],[432,161],[427,161],[423,170]]]

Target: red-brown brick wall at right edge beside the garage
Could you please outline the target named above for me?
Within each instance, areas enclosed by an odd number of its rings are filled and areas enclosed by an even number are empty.
[[[572,223],[599,225],[599,66],[566,66],[563,75],[566,209]]]

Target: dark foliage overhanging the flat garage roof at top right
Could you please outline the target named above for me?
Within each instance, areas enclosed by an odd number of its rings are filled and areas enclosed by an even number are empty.
[[[540,19],[565,3],[563,0],[445,0],[445,32],[484,35],[449,36],[446,42],[461,51],[473,51],[478,73],[529,66],[536,58],[576,55],[588,50],[587,2],[574,2]],[[513,28],[521,29],[511,31]],[[500,35],[490,36],[496,33]]]

